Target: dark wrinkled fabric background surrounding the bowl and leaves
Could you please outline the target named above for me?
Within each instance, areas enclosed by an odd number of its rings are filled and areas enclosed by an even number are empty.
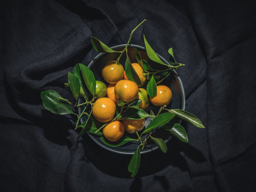
[[[252,1],[4,1],[1,3],[1,191],[256,191],[256,11]],[[72,116],[42,106],[40,92],[64,98],[68,71],[109,46],[143,46],[178,69],[186,110],[205,125],[183,123],[189,143],[130,158],[77,138]]]

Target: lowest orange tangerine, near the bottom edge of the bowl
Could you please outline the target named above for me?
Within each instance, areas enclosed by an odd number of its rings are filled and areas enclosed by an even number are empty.
[[[113,121],[103,128],[102,133],[109,141],[117,141],[124,135],[124,125],[119,121]]]

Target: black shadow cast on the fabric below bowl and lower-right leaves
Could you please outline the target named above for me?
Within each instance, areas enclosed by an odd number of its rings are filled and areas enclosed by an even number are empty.
[[[84,136],[82,143],[87,161],[90,161],[97,169],[114,177],[130,178],[131,173],[127,171],[127,167],[132,156],[119,155],[103,149],[93,142],[88,135]],[[141,155],[140,168],[136,179],[133,181],[134,185],[138,186],[138,183],[140,183],[139,177],[155,174],[167,166],[178,167],[184,172],[188,171],[186,159],[181,155],[182,153],[193,159],[193,161],[206,161],[199,150],[189,146],[187,143],[181,143],[176,138],[167,143],[167,148],[169,150],[167,150],[166,154],[158,149]],[[165,182],[166,178],[156,176],[155,179],[159,180],[164,188],[168,188]]]

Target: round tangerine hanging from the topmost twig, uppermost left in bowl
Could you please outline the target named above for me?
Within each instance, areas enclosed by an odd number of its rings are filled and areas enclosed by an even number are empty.
[[[102,77],[110,84],[116,84],[124,77],[124,68],[117,61],[109,61],[101,71]]]

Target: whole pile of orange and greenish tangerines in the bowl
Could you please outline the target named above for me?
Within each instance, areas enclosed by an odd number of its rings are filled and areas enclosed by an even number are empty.
[[[147,81],[143,75],[143,69],[138,63],[132,63],[132,67],[137,72],[142,86]],[[149,106],[149,101],[154,106],[163,106],[168,105],[172,100],[172,91],[165,85],[158,85],[155,97],[149,97],[147,90],[138,87],[136,83],[127,78],[123,66],[117,61],[106,63],[102,69],[102,77],[109,85],[106,86],[105,83],[96,81],[95,97],[97,100],[92,107],[93,117],[101,123],[110,122],[114,118],[118,98],[123,102],[140,99],[142,102],[138,107],[143,110]],[[128,133],[139,132],[144,126],[145,119],[116,120],[106,125],[102,133],[109,141],[117,141],[122,138],[125,131]]]

